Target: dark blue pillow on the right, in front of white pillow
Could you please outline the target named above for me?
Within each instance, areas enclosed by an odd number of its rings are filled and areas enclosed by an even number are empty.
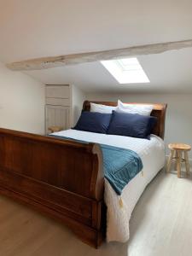
[[[113,111],[108,134],[148,138],[156,121],[157,119],[153,116]]]

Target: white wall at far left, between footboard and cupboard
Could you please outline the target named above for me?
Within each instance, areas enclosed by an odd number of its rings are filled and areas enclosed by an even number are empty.
[[[0,127],[44,133],[44,84],[1,63]]]

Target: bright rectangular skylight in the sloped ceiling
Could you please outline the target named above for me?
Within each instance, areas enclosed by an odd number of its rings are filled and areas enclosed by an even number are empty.
[[[101,61],[119,84],[150,83],[137,58]]]

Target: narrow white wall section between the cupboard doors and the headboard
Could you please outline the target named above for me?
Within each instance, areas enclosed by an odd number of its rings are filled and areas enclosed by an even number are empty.
[[[80,90],[79,87],[75,85],[71,85],[72,90],[72,120],[71,125],[76,125],[79,116],[81,114],[81,110],[83,108],[83,103],[85,100],[85,93],[83,90]]]

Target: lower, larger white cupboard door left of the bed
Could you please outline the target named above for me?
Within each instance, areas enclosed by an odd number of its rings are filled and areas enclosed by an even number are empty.
[[[61,126],[63,130],[70,128],[70,108],[61,106],[45,106],[45,133],[49,134],[50,126]]]

